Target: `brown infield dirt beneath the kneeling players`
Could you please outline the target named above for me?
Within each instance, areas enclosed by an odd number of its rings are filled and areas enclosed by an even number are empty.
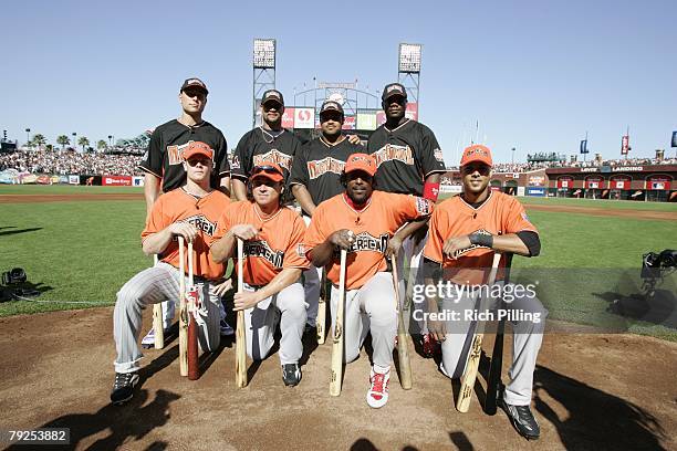
[[[216,359],[202,360],[199,380],[188,381],[178,375],[174,340],[146,352],[136,397],[114,407],[112,313],[107,307],[0,319],[2,428],[70,428],[72,448],[104,450],[677,448],[675,343],[548,335],[532,405],[542,436],[527,442],[502,411],[482,413],[477,398],[469,413],[458,413],[452,385],[433,360],[416,354],[414,389],[403,391],[394,376],[385,408],[373,410],[364,399],[364,353],[347,366],[341,397],[331,398],[329,340],[310,354],[301,385],[291,389],[282,385],[277,355],[250,367],[249,386],[236,388],[230,342]],[[150,316],[144,315],[146,328]],[[511,340],[506,343],[508,356]]]

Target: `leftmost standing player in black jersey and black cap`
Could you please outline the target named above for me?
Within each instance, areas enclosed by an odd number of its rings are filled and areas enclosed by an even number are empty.
[[[207,85],[199,78],[187,78],[179,90],[181,115],[159,125],[150,136],[148,149],[139,169],[146,176],[144,196],[146,198],[146,219],[150,216],[153,204],[162,192],[169,192],[186,182],[181,151],[194,141],[206,143],[215,151],[215,168],[211,175],[211,186],[229,195],[230,167],[228,164],[228,147],[221,130],[202,119],[207,105]],[[165,329],[174,319],[174,300],[163,303]],[[226,311],[222,310],[221,332],[232,335],[233,331],[226,323]],[[155,331],[152,328],[142,340],[142,345],[152,346],[155,343]]]

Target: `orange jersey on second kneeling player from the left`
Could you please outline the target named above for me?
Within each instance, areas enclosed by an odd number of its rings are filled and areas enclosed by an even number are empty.
[[[222,212],[213,241],[237,224],[252,224],[259,231],[253,240],[244,241],[243,279],[248,284],[265,285],[285,268],[310,266],[299,252],[305,223],[295,211],[282,207],[267,217],[254,202],[233,202]]]

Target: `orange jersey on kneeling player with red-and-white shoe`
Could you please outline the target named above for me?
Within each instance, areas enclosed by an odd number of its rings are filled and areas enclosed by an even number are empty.
[[[310,227],[305,232],[305,251],[322,244],[332,233],[347,229],[355,233],[355,243],[347,254],[347,290],[364,285],[377,272],[386,270],[385,252],[388,240],[405,223],[426,217],[434,203],[428,199],[374,191],[367,206],[356,211],[344,193],[334,196],[317,206]],[[338,284],[340,259],[334,255],[326,276]]]

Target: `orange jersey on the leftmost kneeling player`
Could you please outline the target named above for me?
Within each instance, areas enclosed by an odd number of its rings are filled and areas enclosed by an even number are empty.
[[[142,241],[146,237],[157,233],[175,222],[190,222],[199,233],[192,243],[194,274],[210,280],[219,279],[226,272],[226,266],[216,263],[209,254],[211,237],[217,231],[218,218],[230,203],[230,199],[221,191],[211,191],[209,195],[196,199],[183,188],[177,188],[162,195],[153,204],[150,218],[142,232]],[[186,243],[186,261],[184,268],[188,272],[188,243]],[[178,240],[176,237],[163,252],[163,261],[179,268]]]

